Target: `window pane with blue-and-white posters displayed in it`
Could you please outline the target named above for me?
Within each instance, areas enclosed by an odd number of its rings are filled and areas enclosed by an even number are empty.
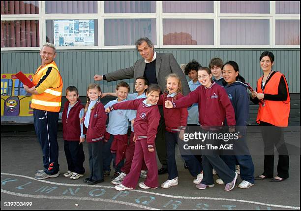
[[[98,45],[97,20],[46,20],[46,39],[55,46]]]

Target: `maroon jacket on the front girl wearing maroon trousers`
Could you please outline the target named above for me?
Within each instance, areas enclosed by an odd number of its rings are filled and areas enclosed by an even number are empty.
[[[137,99],[125,101],[110,106],[110,110],[133,109],[137,110],[134,121],[135,139],[146,140],[148,148],[154,148],[154,141],[160,121],[160,112],[157,105],[147,106],[143,101],[146,99]]]

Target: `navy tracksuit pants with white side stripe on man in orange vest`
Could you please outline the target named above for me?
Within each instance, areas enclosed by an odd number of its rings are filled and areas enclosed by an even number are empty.
[[[55,175],[60,170],[57,141],[59,112],[33,109],[34,129],[43,150],[44,171]]]

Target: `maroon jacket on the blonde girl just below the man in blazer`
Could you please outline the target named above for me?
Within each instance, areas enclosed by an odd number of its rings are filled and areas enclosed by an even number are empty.
[[[174,102],[184,97],[178,93],[175,97],[168,97],[168,93],[160,95],[158,105],[165,105],[165,101]],[[180,130],[185,130],[187,125],[188,111],[187,108],[168,109],[163,106],[164,120],[166,131],[171,133],[178,133]]]

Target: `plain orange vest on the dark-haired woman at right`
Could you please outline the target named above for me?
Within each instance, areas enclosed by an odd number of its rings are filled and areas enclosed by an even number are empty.
[[[280,83],[280,79],[282,77],[282,73],[275,72],[268,83],[265,85],[264,92],[261,88],[261,82],[263,76],[261,76],[257,81],[257,92],[264,94],[277,95],[278,94],[278,86]],[[287,127],[288,126],[288,118],[290,115],[290,94],[288,90],[288,85],[284,77],[286,90],[287,90],[287,99],[286,101],[267,101],[264,100],[265,104],[259,104],[258,114],[256,122],[259,124],[260,121],[268,122],[277,127]]]

